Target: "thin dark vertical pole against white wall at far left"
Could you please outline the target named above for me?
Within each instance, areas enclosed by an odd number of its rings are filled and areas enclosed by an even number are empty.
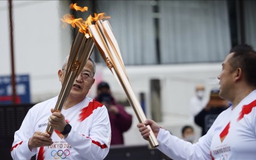
[[[12,28],[12,0],[9,0],[9,20],[10,20],[10,60],[12,68],[12,102],[16,104],[16,82],[15,82],[15,67],[14,67],[14,38]]]

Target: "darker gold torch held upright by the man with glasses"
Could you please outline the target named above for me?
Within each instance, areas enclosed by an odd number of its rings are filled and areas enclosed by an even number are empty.
[[[78,74],[80,74],[87,60],[91,56],[94,46],[95,44],[91,37],[86,38],[84,33],[77,31],[75,40],[73,41],[70,50],[64,83],[62,84],[62,88],[60,90],[54,111],[62,110],[62,107],[67,100],[68,94],[72,89],[75,79],[77,78]],[[52,135],[53,130],[53,127],[47,126],[46,132]]]

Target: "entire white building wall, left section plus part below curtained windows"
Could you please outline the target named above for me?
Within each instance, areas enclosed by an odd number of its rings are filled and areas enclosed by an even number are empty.
[[[0,75],[10,75],[10,44],[8,1],[0,1]],[[32,103],[41,102],[59,94],[57,71],[71,49],[70,28],[62,28],[60,18],[69,12],[68,1],[13,1],[14,53],[16,74],[30,75]],[[188,102],[197,83],[204,83],[207,93],[218,86],[221,63],[184,65],[126,66],[128,78],[136,95],[146,94],[147,118],[151,118],[150,80],[160,79],[162,126],[180,137],[181,126],[189,120]],[[97,65],[97,82],[109,82],[115,98],[124,100],[125,92],[105,64]],[[95,96],[96,85],[89,92]],[[208,94],[209,95],[209,94]],[[208,96],[206,95],[206,96]],[[139,97],[138,97],[139,98]],[[125,134],[125,144],[147,143],[139,135],[134,111],[133,126]],[[194,124],[192,124],[194,125]],[[200,130],[196,128],[197,135]]]

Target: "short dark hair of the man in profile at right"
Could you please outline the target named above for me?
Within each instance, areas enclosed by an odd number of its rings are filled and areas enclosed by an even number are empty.
[[[229,59],[232,71],[241,68],[246,81],[256,87],[256,51],[248,44],[241,44],[233,47],[229,54],[233,53]]]

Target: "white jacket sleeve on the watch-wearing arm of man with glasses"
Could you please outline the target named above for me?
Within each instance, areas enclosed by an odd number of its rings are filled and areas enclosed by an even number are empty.
[[[65,141],[85,159],[104,159],[109,153],[111,129],[107,108],[101,107],[94,113],[89,136],[71,130]]]

